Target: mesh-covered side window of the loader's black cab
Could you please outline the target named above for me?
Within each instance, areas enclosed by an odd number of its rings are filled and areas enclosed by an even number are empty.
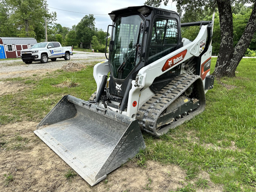
[[[149,47],[148,64],[168,55],[177,49],[177,20],[157,17],[153,23]]]

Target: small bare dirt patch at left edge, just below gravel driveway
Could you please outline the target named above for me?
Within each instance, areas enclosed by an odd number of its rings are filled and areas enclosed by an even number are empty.
[[[29,88],[28,85],[20,84],[15,81],[0,81],[0,95],[6,95],[9,93],[16,93]]]

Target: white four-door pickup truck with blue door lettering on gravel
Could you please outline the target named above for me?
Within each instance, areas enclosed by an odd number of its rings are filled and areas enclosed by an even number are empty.
[[[73,55],[73,48],[61,47],[59,42],[38,43],[30,49],[23,49],[20,52],[20,57],[26,64],[31,64],[33,61],[47,63],[48,59],[56,61],[57,58],[70,60],[70,55]]]

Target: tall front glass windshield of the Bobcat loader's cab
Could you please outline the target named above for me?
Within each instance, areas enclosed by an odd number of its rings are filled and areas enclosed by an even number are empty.
[[[115,79],[125,79],[140,62],[137,52],[142,43],[140,27],[143,23],[139,15],[116,19],[112,32],[113,51],[109,55]]]

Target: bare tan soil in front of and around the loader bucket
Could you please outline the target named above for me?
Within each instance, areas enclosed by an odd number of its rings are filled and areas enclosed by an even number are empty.
[[[79,175],[68,180],[64,175],[70,166],[33,133],[36,125],[19,122],[0,128],[0,142],[6,143],[0,148],[0,191],[167,192],[187,185],[186,171],[154,161],[147,161],[145,168],[128,162],[93,187]],[[9,184],[4,180],[5,174],[13,176]],[[205,172],[200,177],[209,180]],[[211,182],[209,186],[204,192],[221,191]]]

